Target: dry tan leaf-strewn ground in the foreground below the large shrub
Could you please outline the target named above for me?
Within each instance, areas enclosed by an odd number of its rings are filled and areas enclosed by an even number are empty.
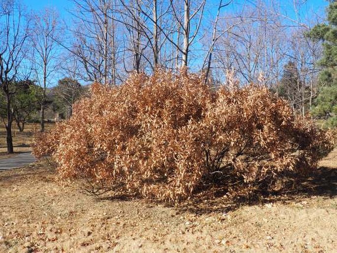
[[[311,193],[166,207],[60,186],[39,161],[0,173],[0,252],[336,252],[337,149],[321,165]]]

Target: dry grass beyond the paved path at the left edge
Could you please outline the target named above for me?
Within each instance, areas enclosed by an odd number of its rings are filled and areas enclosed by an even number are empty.
[[[45,123],[46,129],[50,129],[55,126],[53,123]],[[12,133],[13,133],[13,145],[15,154],[7,155],[6,148],[6,129],[3,124],[0,125],[0,159],[13,157],[18,153],[22,152],[31,152],[31,142],[33,140],[34,132],[39,131],[40,125],[37,123],[27,123],[25,125],[25,130],[19,132],[18,127],[13,124]]]

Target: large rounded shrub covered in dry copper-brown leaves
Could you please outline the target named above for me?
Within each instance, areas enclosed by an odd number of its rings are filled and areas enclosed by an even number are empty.
[[[330,132],[265,87],[230,80],[215,94],[197,75],[157,71],[92,85],[70,120],[36,136],[33,154],[52,155],[61,178],[177,202],[205,185],[267,189],[332,146]]]

